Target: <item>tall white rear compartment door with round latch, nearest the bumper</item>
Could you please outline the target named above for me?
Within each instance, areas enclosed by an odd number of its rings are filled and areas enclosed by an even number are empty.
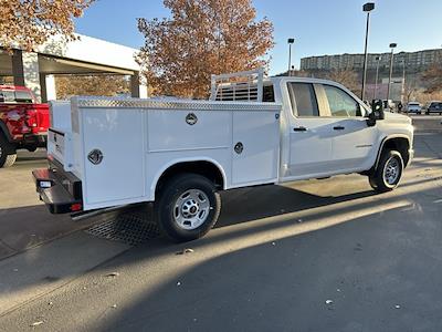
[[[131,203],[145,194],[144,121],[135,108],[83,108],[85,209]]]

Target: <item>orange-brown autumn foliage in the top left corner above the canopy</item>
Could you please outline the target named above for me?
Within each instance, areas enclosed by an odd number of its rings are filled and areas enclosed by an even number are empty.
[[[94,0],[0,0],[0,45],[31,51],[51,35],[74,40],[73,18]]]

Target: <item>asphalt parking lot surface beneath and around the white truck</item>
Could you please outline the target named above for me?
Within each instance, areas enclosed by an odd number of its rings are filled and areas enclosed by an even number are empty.
[[[186,245],[157,235],[149,207],[50,215],[30,174],[44,151],[21,153],[0,170],[0,330],[440,331],[442,126],[413,118],[397,190],[359,175],[232,190]],[[84,231],[127,216],[123,234],[148,225],[137,246]]]

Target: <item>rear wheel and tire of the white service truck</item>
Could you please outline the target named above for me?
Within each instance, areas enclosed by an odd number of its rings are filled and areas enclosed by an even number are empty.
[[[155,212],[164,235],[175,242],[203,237],[217,224],[221,197],[213,183],[197,174],[181,174],[162,187]]]

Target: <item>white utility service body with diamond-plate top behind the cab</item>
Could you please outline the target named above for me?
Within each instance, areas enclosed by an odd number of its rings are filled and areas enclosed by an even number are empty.
[[[82,181],[84,210],[152,201],[160,176],[179,163],[214,165],[223,189],[275,183],[280,111],[274,103],[74,97],[52,105],[49,157]]]

